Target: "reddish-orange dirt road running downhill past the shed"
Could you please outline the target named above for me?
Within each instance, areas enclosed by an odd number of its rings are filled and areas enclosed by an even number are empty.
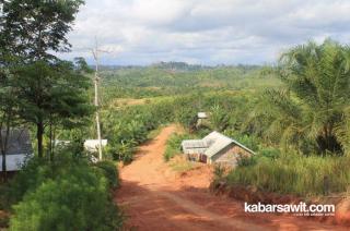
[[[246,214],[242,202],[208,192],[209,166],[178,175],[163,160],[165,143],[176,130],[163,129],[121,168],[115,196],[128,217],[126,230],[346,230],[293,216]]]

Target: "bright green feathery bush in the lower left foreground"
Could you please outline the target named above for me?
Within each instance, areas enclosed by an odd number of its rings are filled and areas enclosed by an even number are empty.
[[[47,180],[15,205],[10,230],[116,230],[121,216],[106,178],[89,167]]]

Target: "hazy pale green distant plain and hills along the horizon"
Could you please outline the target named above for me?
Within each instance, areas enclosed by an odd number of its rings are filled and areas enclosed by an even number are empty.
[[[150,98],[212,90],[242,90],[279,86],[273,74],[259,66],[197,66],[160,63],[108,69],[102,72],[103,98]]]

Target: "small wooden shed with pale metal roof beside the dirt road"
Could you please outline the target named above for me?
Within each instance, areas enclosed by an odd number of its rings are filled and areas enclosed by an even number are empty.
[[[240,157],[255,154],[243,144],[219,132],[212,132],[202,139],[183,141],[182,150],[190,160],[226,166],[236,166]]]

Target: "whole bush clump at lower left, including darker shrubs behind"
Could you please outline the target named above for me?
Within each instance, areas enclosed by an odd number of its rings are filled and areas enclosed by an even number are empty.
[[[97,167],[63,153],[54,166],[31,160],[9,187],[9,199],[15,203],[10,230],[120,228],[121,214],[109,194],[118,184],[116,167],[108,162]]]

